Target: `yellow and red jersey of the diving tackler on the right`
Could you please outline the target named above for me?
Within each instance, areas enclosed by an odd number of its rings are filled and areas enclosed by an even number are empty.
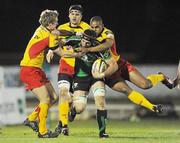
[[[113,39],[114,43],[112,45],[112,47],[110,47],[110,53],[112,55],[112,57],[118,61],[120,58],[120,55],[117,54],[116,51],[116,42],[114,39],[114,34],[111,30],[107,29],[104,27],[103,31],[101,32],[101,34],[96,38],[100,43],[103,43],[106,39]]]

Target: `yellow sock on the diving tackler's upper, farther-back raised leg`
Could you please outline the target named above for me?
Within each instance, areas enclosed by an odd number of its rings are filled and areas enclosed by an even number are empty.
[[[152,75],[148,75],[147,79],[149,79],[152,82],[153,86],[155,86],[160,81],[164,80],[164,76],[162,74],[152,74]]]

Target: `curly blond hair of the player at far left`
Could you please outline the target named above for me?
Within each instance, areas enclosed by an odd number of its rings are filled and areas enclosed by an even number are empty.
[[[56,19],[58,18],[59,13],[56,10],[49,10],[46,9],[41,12],[39,23],[47,27],[50,23],[57,22]]]

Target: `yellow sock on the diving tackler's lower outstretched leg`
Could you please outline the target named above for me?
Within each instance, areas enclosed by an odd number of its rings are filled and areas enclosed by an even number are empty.
[[[153,110],[153,106],[154,104],[151,104],[142,94],[140,94],[137,91],[132,91],[129,95],[128,95],[129,100],[131,100],[132,102],[144,106],[152,111]]]

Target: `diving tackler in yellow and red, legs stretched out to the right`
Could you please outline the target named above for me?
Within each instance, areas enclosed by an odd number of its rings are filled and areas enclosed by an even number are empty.
[[[109,49],[112,56],[118,63],[119,69],[110,77],[106,77],[106,84],[112,89],[126,94],[128,98],[135,104],[144,106],[154,112],[161,112],[162,105],[151,104],[141,93],[130,88],[125,80],[129,80],[142,89],[149,89],[155,86],[158,82],[166,82],[169,84],[167,77],[163,74],[153,74],[145,78],[133,65],[122,59],[122,57],[120,57],[120,55],[118,55],[116,52],[116,44],[113,32],[104,27],[103,20],[100,16],[92,17],[90,20],[90,26],[96,31],[96,34],[98,35],[97,40],[101,44],[86,49],[78,48],[77,50],[82,52],[97,52]]]

